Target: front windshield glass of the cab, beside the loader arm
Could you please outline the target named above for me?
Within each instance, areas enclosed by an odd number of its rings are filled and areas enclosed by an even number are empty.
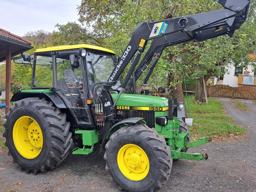
[[[90,53],[87,54],[86,62],[90,85],[100,81],[108,81],[116,65],[114,55],[93,50],[90,50]],[[118,82],[114,87],[119,85],[120,83]]]

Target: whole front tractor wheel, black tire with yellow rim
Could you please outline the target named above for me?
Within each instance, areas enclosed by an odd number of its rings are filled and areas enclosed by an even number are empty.
[[[172,158],[163,136],[145,124],[125,126],[111,135],[104,159],[111,180],[126,191],[154,191],[170,176]]]

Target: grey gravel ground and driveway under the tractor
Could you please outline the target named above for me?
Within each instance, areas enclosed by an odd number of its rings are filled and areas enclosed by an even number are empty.
[[[169,180],[158,192],[179,191],[256,191],[256,105],[239,111],[229,101],[222,101],[229,116],[244,126],[244,139],[212,142],[189,152],[207,152],[207,161],[179,160],[173,163]],[[75,148],[72,146],[71,148]],[[206,149],[206,151],[202,150]],[[25,173],[12,164],[7,152],[0,152],[0,191],[120,191],[105,170],[104,153],[72,155],[47,173]]]

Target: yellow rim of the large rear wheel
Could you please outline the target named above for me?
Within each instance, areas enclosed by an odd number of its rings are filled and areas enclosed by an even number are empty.
[[[12,137],[17,151],[23,157],[33,159],[40,154],[43,147],[43,134],[32,117],[20,117],[13,126]]]

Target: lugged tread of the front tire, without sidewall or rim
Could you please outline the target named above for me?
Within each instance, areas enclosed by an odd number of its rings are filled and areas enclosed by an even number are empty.
[[[129,129],[129,131],[128,131]],[[154,191],[156,189],[161,188],[162,185],[168,180],[171,168],[172,168],[172,158],[171,158],[171,150],[169,146],[166,146],[166,142],[163,136],[159,136],[158,132],[155,128],[149,128],[145,124],[141,125],[134,125],[134,126],[124,126],[123,128],[117,130],[115,133],[113,133],[110,137],[110,140],[106,144],[106,152],[104,155],[104,159],[106,160],[106,170],[110,172],[111,178],[116,181],[119,188],[124,189],[126,191],[133,191],[130,188],[126,188],[122,185],[122,183],[119,182],[120,178],[115,178],[115,175],[113,174],[108,160],[108,153],[109,149],[111,148],[112,143],[120,136],[122,135],[136,135],[140,137],[141,139],[148,142],[148,144],[151,146],[151,148],[154,150],[157,161],[158,161],[158,169],[159,169],[159,175],[155,177],[155,180],[151,182],[150,186],[147,186],[147,188],[144,188],[142,190],[137,189],[137,192],[144,192],[144,191]]]

